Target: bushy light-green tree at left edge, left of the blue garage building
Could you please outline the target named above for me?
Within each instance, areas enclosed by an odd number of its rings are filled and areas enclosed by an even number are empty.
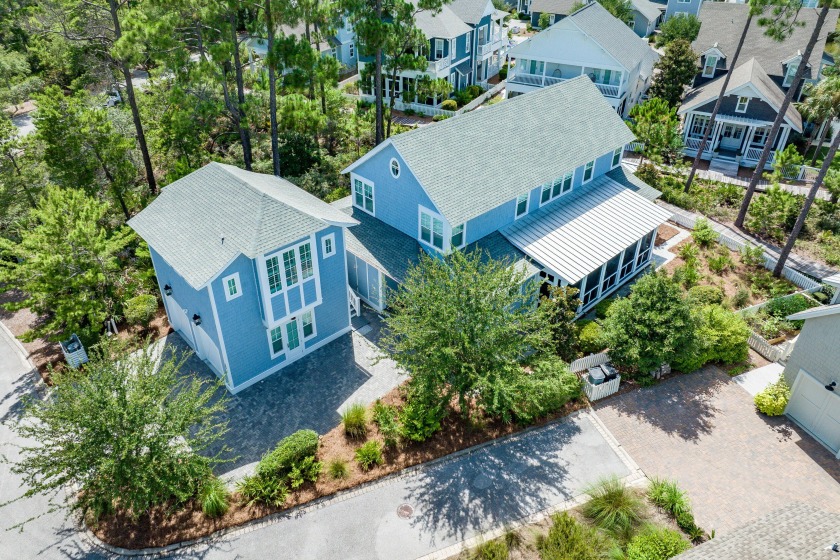
[[[25,340],[95,340],[115,314],[118,255],[129,244],[128,228],[110,231],[108,206],[79,189],[47,188],[32,210],[21,240],[0,239],[0,283],[25,298],[7,309],[29,308],[45,317]]]

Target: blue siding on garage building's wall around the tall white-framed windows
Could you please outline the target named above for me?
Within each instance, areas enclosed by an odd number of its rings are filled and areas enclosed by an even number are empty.
[[[330,234],[335,235],[335,253],[326,259],[322,252],[321,240]],[[306,238],[286,245],[279,250],[295,246]],[[271,254],[275,252],[272,251]],[[344,260],[344,231],[337,226],[325,228],[315,234],[312,246],[313,259],[317,259],[317,272],[321,283],[321,304],[313,309],[315,336],[304,341],[305,351],[324,343],[350,327],[350,311],[347,299],[347,268]],[[257,267],[263,266],[252,259],[240,255],[224,272],[213,281],[213,293],[219,322],[227,350],[233,387],[236,390],[243,384],[272,370],[279,369],[286,360],[285,354],[271,357],[268,326],[263,321],[261,311],[261,293]],[[282,261],[281,261],[282,267]],[[282,268],[281,268],[282,271]],[[230,274],[239,273],[242,295],[227,301],[222,280]],[[313,277],[312,280],[315,280]],[[267,289],[267,287],[266,287]],[[288,288],[285,288],[287,290]],[[314,302],[314,297],[300,290],[307,305]],[[278,295],[282,299],[283,292]],[[314,292],[313,292],[314,295]],[[311,298],[311,299],[310,299]],[[290,305],[290,307],[292,307]],[[275,310],[277,307],[274,307]],[[296,310],[300,310],[297,307]],[[293,315],[285,314],[284,319]],[[275,316],[275,319],[279,319]]]

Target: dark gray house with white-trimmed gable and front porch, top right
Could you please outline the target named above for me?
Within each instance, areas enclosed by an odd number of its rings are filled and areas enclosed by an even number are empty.
[[[733,170],[738,165],[753,168],[757,165],[817,17],[815,10],[801,10],[798,20],[804,25],[794,27],[793,34],[783,42],[767,37],[764,28],[754,22],[733,69],[728,61],[738,46],[749,10],[747,5],[721,2],[708,2],[700,8],[700,34],[692,45],[700,56],[700,72],[678,111],[683,117],[685,154],[695,156],[725,74],[732,72],[703,159],[712,160],[714,165],[731,166]],[[837,15],[837,10],[831,10],[826,29],[834,29]],[[822,35],[811,59],[805,62],[809,81],[819,79],[826,36]],[[768,168],[772,167],[775,153],[787,145],[791,133],[801,133],[802,126],[801,115],[791,105],[773,145]]]

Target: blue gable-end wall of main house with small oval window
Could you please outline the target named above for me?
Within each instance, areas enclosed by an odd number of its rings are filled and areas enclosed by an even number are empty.
[[[392,158],[400,164],[400,176],[396,179],[391,175]],[[350,174],[351,196],[354,196],[352,184],[354,175],[373,182],[373,204],[376,218],[412,239],[419,237],[419,206],[424,206],[440,214],[426,191],[423,190],[423,187],[411,173],[402,156],[393,146],[386,146]]]

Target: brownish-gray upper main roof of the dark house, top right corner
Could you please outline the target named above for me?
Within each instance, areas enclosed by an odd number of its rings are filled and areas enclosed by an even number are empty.
[[[694,51],[698,54],[703,53],[717,43],[718,50],[727,58],[731,58],[738,46],[738,39],[741,37],[741,31],[749,15],[749,10],[750,7],[747,4],[703,2],[698,14],[701,21],[700,33],[692,45]],[[834,31],[837,25],[838,13],[840,13],[840,10],[829,11],[823,26],[823,33],[820,34],[811,53],[809,63],[812,69],[819,68],[820,59],[825,50],[826,38],[828,33]],[[805,25],[795,27],[793,34],[782,42],[774,41],[765,35],[765,28],[758,25],[758,22],[754,20],[747,32],[747,38],[738,59],[749,60],[755,58],[769,75],[784,76],[782,62],[795,56],[797,52],[805,50],[817,22],[817,10],[802,8],[799,10],[797,19]]]

